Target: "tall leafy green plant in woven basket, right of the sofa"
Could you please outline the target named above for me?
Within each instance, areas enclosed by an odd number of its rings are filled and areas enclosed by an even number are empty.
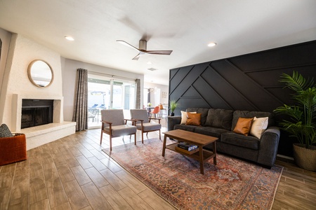
[[[295,137],[299,144],[294,144],[294,161],[303,169],[316,171],[316,86],[313,78],[306,80],[297,71],[293,76],[282,73],[285,87],[294,91],[294,105],[277,107],[275,113],[289,116],[282,120],[282,129]],[[313,145],[314,144],[314,145]]]

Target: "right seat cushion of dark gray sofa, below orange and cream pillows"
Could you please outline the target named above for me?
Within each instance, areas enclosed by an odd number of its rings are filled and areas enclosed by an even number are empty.
[[[260,143],[259,139],[256,137],[246,137],[244,135],[236,134],[234,132],[223,133],[220,137],[220,141],[226,144],[251,148],[253,150],[258,150]]]

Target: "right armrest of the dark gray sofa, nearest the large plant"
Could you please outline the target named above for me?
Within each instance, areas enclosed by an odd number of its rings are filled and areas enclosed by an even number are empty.
[[[261,135],[258,163],[272,167],[277,158],[277,148],[279,146],[279,127],[268,127]]]

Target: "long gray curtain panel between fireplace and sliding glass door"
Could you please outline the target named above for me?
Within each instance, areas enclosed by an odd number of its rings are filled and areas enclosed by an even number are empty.
[[[88,129],[88,70],[77,69],[77,88],[74,94],[74,115],[76,131]]]

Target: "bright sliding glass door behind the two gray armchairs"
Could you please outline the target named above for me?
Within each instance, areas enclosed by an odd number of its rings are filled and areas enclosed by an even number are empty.
[[[88,127],[100,127],[102,109],[124,109],[129,118],[129,109],[135,109],[136,84],[88,74]]]

